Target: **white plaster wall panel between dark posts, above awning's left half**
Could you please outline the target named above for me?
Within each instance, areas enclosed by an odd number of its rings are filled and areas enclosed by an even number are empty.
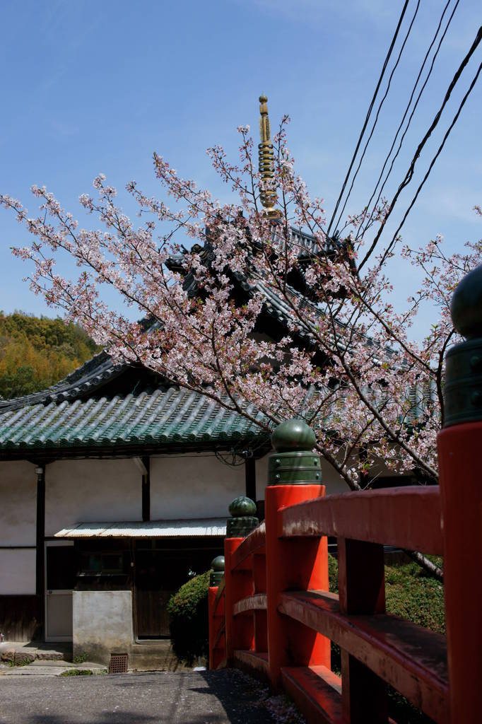
[[[142,473],[133,460],[59,460],[46,466],[45,534],[77,523],[142,521]]]

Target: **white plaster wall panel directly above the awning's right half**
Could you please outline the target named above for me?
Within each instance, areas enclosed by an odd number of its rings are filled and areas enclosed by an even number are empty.
[[[225,518],[244,493],[244,465],[232,468],[214,455],[151,458],[152,520]]]

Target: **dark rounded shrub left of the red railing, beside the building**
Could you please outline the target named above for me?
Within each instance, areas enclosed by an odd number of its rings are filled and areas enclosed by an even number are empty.
[[[198,656],[209,652],[208,587],[206,571],[181,586],[169,600],[167,611],[174,654],[192,666]]]

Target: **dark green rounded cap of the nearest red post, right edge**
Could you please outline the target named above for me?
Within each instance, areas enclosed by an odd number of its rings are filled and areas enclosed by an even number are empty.
[[[466,341],[445,356],[444,427],[482,420],[482,264],[457,285],[450,313]]]

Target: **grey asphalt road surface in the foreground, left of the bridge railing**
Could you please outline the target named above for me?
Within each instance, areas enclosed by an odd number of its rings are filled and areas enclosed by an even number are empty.
[[[0,724],[273,724],[235,670],[0,677]]]

